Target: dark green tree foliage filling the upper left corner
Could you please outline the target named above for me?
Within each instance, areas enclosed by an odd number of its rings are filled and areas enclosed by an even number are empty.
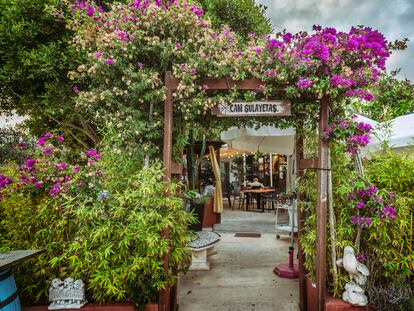
[[[0,112],[28,116],[34,136],[56,129],[79,151],[98,135],[73,105],[67,72],[80,55],[57,8],[55,0],[0,0]]]

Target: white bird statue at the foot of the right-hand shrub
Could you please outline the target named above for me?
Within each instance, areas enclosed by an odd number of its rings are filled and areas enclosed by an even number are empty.
[[[368,268],[360,263],[355,257],[354,249],[351,246],[346,246],[344,249],[344,257],[337,260],[338,266],[343,266],[349,273],[350,283],[345,285],[345,292],[342,294],[342,299],[355,306],[366,306],[368,298],[364,294],[363,286],[367,281],[369,275]]]

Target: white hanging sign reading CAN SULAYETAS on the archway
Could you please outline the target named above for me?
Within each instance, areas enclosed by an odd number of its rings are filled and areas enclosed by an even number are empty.
[[[220,104],[211,109],[218,117],[290,116],[290,101],[271,100]]]

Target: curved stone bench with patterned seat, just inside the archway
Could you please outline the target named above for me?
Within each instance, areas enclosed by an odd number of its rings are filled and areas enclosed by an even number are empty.
[[[197,231],[198,239],[191,241],[191,266],[189,270],[210,270],[208,256],[216,254],[214,246],[220,241],[220,235],[213,231]]]

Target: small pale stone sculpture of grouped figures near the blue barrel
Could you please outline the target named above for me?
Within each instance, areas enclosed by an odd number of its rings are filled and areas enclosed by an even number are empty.
[[[49,288],[49,310],[79,309],[85,305],[85,284],[69,277],[64,281],[53,279]]]

